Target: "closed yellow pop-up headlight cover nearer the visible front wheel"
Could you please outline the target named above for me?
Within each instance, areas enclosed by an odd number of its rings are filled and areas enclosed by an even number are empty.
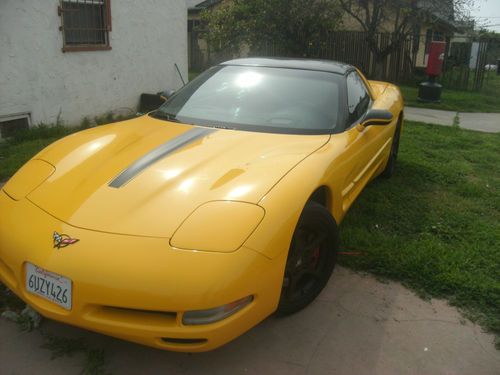
[[[208,202],[181,224],[170,245],[186,250],[229,253],[243,245],[263,218],[264,209],[255,204]]]

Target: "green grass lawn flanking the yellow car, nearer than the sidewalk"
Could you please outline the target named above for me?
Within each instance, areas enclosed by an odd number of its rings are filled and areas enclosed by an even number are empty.
[[[0,144],[0,176],[56,138]],[[446,298],[500,337],[499,144],[407,121],[395,176],[370,183],[341,225],[343,246],[362,250],[341,263]]]

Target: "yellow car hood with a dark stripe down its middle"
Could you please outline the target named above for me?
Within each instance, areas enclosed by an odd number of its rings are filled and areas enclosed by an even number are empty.
[[[205,202],[259,202],[328,140],[143,116],[73,134],[43,150],[35,159],[55,171],[28,199],[80,228],[171,237]]]

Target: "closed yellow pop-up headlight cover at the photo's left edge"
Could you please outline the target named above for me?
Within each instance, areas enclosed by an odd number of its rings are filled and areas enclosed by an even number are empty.
[[[3,190],[18,201],[40,186],[55,170],[52,164],[44,160],[30,160],[5,184]]]

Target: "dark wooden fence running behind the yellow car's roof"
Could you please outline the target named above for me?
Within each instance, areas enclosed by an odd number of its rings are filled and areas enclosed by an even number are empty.
[[[417,55],[423,56],[423,51],[419,51],[419,48],[425,48],[424,44],[420,43],[423,36],[408,37],[390,55],[377,62],[370,51],[367,34],[364,32],[330,33],[321,40],[310,43],[308,48],[298,55],[290,54],[275,43],[265,44],[258,50],[250,50],[243,46],[239,53],[224,50],[214,52],[203,39],[203,35],[201,31],[189,33],[189,68],[191,70],[202,71],[222,61],[239,57],[307,57],[342,61],[354,65],[368,78],[415,84]],[[378,33],[375,39],[383,49],[390,44],[393,37],[390,33]],[[470,40],[466,45],[458,45],[458,47],[456,43],[449,43],[440,81],[446,88],[480,90],[483,84],[487,49],[486,41]],[[474,64],[471,64],[473,56],[475,60]],[[378,67],[377,64],[379,64]],[[421,78],[424,79],[424,77]]]

